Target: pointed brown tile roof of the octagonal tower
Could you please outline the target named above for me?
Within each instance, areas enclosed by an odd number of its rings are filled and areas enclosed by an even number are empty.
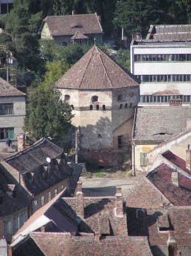
[[[118,65],[95,45],[57,82],[57,88],[108,90],[139,86],[128,70]]]

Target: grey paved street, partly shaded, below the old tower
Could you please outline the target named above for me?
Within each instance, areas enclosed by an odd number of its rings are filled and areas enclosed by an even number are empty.
[[[85,179],[84,177],[80,177],[80,180],[83,182],[82,192],[84,196],[114,196],[116,194],[116,186],[121,186],[122,193],[125,195],[125,193],[134,188],[142,178],[142,176],[126,179]]]

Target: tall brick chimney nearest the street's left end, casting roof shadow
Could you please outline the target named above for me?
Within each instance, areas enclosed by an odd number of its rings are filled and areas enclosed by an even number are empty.
[[[84,194],[82,193],[82,182],[77,182],[76,212],[80,219],[84,219]]]

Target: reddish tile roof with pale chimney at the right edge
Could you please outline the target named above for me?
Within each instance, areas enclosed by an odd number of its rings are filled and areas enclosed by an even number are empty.
[[[180,187],[172,184],[172,172],[176,172],[167,164],[161,164],[146,175],[160,192],[174,205],[191,205],[191,179],[179,173]]]

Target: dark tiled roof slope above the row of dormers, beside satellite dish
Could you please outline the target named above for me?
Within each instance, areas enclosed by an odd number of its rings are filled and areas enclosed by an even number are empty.
[[[4,161],[18,172],[24,174],[27,172],[33,172],[36,168],[47,163],[46,158],[54,159],[59,157],[63,153],[63,149],[57,147],[49,140],[42,138],[30,147],[7,157]]]

